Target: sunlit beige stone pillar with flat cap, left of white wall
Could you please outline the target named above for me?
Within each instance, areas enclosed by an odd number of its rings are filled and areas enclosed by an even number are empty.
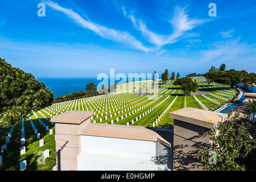
[[[81,151],[80,130],[91,122],[92,111],[70,110],[51,118],[55,123],[56,164],[58,171],[76,171],[76,156]]]

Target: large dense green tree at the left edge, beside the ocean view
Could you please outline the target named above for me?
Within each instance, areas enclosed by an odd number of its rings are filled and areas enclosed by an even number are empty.
[[[31,110],[50,106],[54,100],[54,93],[43,82],[1,58],[0,90],[0,128],[27,119]]]

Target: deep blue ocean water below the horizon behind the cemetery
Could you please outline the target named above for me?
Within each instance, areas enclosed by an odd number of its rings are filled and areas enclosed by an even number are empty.
[[[141,78],[140,80],[145,80],[146,78]],[[40,82],[44,82],[46,87],[54,92],[54,98],[59,96],[66,96],[73,92],[85,91],[84,88],[86,84],[93,81],[96,86],[101,82],[101,84],[107,84],[107,81],[97,80],[97,78],[36,78]],[[135,80],[135,79],[133,79]],[[128,78],[127,78],[128,81]],[[108,86],[119,82],[126,82],[125,80],[115,80],[114,78],[108,78]]]

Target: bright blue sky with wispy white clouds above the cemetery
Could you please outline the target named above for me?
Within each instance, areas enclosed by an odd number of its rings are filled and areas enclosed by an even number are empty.
[[[217,16],[210,17],[209,3]],[[38,3],[46,16],[38,16]],[[256,72],[255,1],[0,1],[0,57],[35,77]]]

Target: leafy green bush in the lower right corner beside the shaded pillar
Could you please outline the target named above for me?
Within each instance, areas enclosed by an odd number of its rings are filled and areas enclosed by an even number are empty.
[[[246,170],[256,169],[256,160],[249,156],[255,156],[253,151],[256,148],[255,123],[249,121],[249,115],[239,117],[239,111],[228,111],[228,118],[224,122],[218,122],[215,129],[210,130],[209,137],[212,141],[210,147],[197,148],[198,162],[204,164],[206,170]],[[216,152],[216,160],[212,160]],[[253,161],[252,161],[253,159]]]

